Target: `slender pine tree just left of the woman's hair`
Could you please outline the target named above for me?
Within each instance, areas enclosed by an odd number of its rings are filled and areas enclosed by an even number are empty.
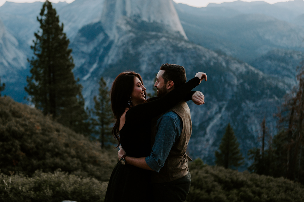
[[[94,96],[95,106],[92,111],[96,119],[93,120],[95,126],[95,134],[99,136],[101,148],[105,148],[105,144],[114,141],[112,138],[112,123],[114,116],[111,108],[111,98],[109,96],[109,89],[103,78],[99,81],[98,97]],[[111,141],[111,139],[113,139]]]

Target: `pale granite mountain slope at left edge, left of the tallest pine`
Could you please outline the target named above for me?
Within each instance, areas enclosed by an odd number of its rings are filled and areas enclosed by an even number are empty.
[[[6,84],[2,94],[13,92],[16,99],[23,99],[27,75],[26,55],[20,51],[22,44],[10,34],[0,19],[0,77]]]

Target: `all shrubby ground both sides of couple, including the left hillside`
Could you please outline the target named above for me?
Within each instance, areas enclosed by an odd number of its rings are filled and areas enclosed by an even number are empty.
[[[0,98],[0,201],[103,201],[116,150],[75,133],[41,111]],[[61,170],[58,170],[61,169]],[[303,201],[284,178],[189,163],[188,202]]]

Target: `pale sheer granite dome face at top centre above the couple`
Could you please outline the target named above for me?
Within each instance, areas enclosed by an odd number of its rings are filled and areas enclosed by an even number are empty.
[[[115,37],[117,40],[119,28],[129,28],[124,26],[129,19],[159,23],[172,35],[181,35],[187,39],[171,0],[105,1],[101,22],[105,32],[111,38]]]

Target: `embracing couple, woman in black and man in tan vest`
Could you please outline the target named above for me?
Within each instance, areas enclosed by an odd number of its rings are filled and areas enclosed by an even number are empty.
[[[121,146],[105,202],[185,201],[189,193],[192,122],[185,101],[204,104],[204,95],[192,89],[207,75],[199,72],[186,82],[184,67],[164,64],[156,79],[157,97],[147,100],[135,72],[120,73],[112,84],[113,135]]]

